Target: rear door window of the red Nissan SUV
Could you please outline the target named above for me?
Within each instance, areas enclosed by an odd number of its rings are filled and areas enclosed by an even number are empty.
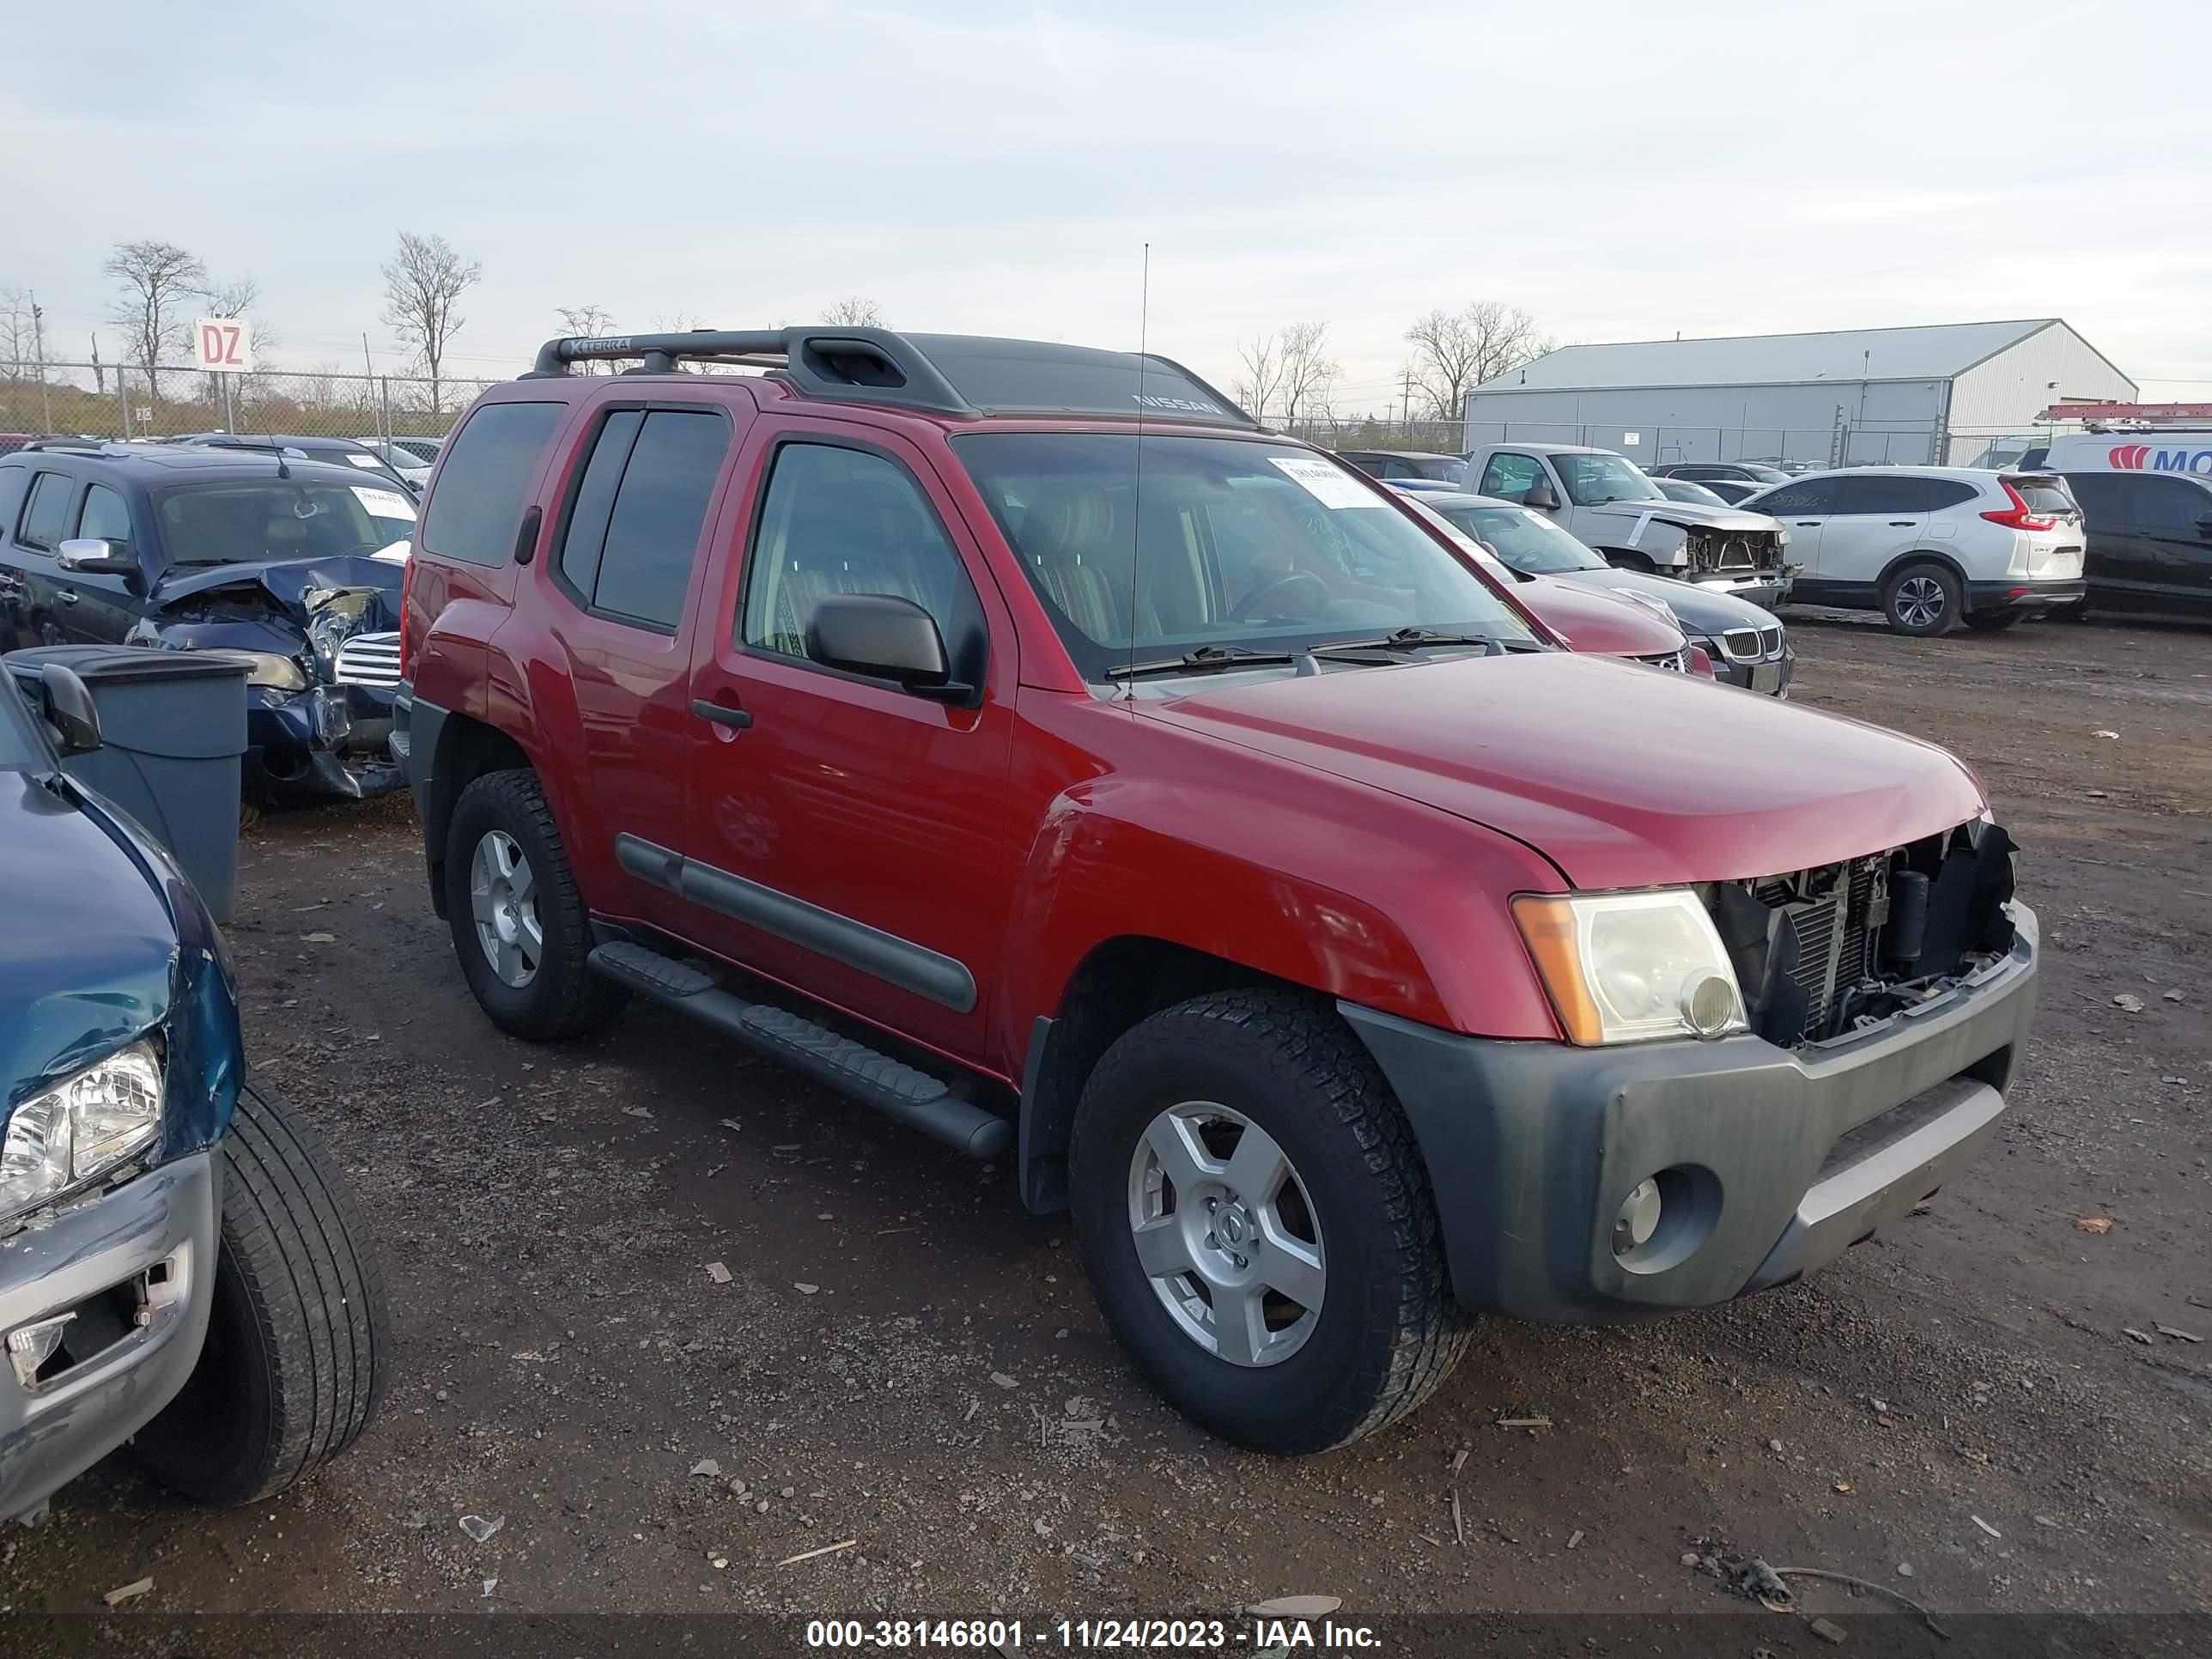
[[[562,533],[560,577],[571,595],[675,633],[728,449],[730,422],[717,409],[608,414]]]

